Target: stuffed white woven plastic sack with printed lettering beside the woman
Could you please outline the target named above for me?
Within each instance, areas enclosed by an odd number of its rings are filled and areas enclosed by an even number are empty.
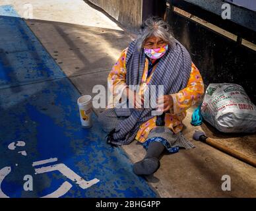
[[[256,106],[238,84],[209,84],[201,114],[224,133],[256,132]]]

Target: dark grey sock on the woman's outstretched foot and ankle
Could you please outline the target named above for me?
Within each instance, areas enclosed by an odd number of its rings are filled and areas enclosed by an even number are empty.
[[[133,172],[137,175],[150,175],[160,167],[159,157],[164,151],[164,145],[160,142],[148,144],[148,150],[143,160],[133,165]]]

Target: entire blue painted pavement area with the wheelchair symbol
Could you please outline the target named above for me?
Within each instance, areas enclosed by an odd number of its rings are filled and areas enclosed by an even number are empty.
[[[95,116],[91,129],[80,127],[79,92],[10,5],[0,7],[0,32],[0,197],[155,197],[123,150],[106,144]],[[57,159],[32,166],[49,158]],[[55,164],[79,179],[35,174]],[[80,185],[92,179],[99,181]]]

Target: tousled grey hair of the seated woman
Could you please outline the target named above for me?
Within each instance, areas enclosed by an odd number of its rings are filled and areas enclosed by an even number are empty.
[[[170,25],[160,17],[150,16],[144,20],[143,24],[141,24],[141,28],[137,37],[137,48],[139,51],[143,47],[146,39],[150,36],[162,38],[164,42],[168,43],[169,47],[174,45],[175,39],[172,35]]]

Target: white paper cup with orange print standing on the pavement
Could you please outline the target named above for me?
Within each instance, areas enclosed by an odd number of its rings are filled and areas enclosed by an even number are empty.
[[[92,127],[92,96],[84,95],[77,100],[82,127]]]

